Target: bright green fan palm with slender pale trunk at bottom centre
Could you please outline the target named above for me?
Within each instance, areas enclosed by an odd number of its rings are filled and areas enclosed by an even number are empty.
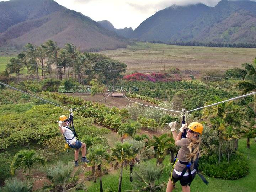
[[[112,151],[112,158],[116,161],[115,168],[118,165],[121,165],[120,168],[120,177],[119,177],[119,185],[118,185],[118,192],[121,192],[121,185],[122,185],[122,176],[123,176],[123,166],[126,161],[130,161],[135,157],[136,154],[133,153],[132,145],[128,142],[121,143],[117,142],[114,148],[111,149]]]

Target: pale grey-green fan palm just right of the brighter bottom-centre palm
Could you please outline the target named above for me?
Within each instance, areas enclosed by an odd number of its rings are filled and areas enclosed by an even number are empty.
[[[150,147],[146,147],[146,142],[143,140],[136,141],[134,139],[129,139],[127,142],[132,145],[133,153],[137,154],[129,162],[129,164],[130,164],[130,181],[133,181],[132,173],[133,173],[133,166],[135,165],[135,163],[139,164],[140,161],[147,160],[148,157],[152,156],[152,154],[154,153],[154,150]]]

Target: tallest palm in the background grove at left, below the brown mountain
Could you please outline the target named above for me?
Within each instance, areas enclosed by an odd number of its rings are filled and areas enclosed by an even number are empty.
[[[48,40],[46,43],[41,45],[41,47],[43,48],[44,53],[48,57],[48,70],[49,70],[50,77],[51,77],[51,65],[55,63],[56,75],[58,79],[59,72],[58,72],[57,54],[60,50],[59,46],[57,46],[57,43],[55,41]]]

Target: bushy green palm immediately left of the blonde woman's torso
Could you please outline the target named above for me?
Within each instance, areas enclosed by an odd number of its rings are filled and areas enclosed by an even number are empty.
[[[167,134],[163,134],[161,136],[153,135],[152,139],[149,140],[148,146],[153,146],[156,154],[156,164],[163,164],[163,160],[166,155],[167,149],[172,145],[172,138],[168,137]]]

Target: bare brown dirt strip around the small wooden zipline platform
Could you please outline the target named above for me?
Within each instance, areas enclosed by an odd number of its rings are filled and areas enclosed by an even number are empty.
[[[79,97],[79,98],[82,98],[86,101],[92,101],[92,102],[96,102],[96,101],[99,101],[99,100],[102,100],[104,97],[103,95],[101,94],[96,94],[94,96],[91,96],[91,94],[89,93],[65,93],[66,95],[69,95],[69,96],[73,96],[73,97]],[[142,100],[139,100],[139,99],[135,99],[135,98],[129,98],[130,100],[132,101],[135,101],[135,102],[139,102],[139,103],[142,103],[144,105],[150,105],[150,106],[154,106],[153,104],[151,103],[148,103],[148,102],[145,102],[145,101],[142,101]],[[127,98],[123,97],[107,97],[106,98],[106,102],[105,100],[102,100],[100,101],[99,103],[101,104],[104,104],[106,105],[107,107],[118,107],[118,108],[125,108],[127,105],[129,105],[130,103],[133,103],[129,100],[127,100]]]

